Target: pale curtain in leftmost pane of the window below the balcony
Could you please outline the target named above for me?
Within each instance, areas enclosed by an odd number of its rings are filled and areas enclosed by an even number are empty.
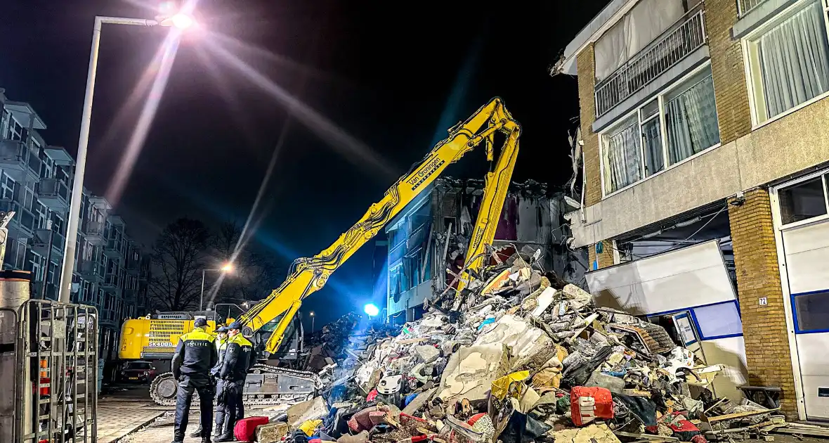
[[[604,144],[605,191],[613,192],[642,179],[642,151],[639,148],[639,124],[609,135]]]

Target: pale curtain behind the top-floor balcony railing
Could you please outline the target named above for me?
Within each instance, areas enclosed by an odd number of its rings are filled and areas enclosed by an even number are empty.
[[[596,80],[604,80],[625,61],[659,37],[685,9],[682,0],[641,0],[595,46]]]

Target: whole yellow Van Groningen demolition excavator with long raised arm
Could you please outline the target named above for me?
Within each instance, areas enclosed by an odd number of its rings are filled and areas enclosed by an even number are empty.
[[[264,341],[266,358],[279,356],[284,348],[295,352],[293,345],[282,346],[288,330],[295,325],[297,313],[303,299],[325,285],[331,274],[354,254],[366,241],[371,240],[386,223],[390,222],[418,194],[434,182],[449,164],[457,162],[464,154],[483,144],[487,160],[492,163],[495,145],[501,142],[497,163],[487,173],[478,220],[473,227],[472,238],[466,254],[463,274],[460,275],[458,290],[468,281],[468,275],[476,273],[485,265],[484,253],[492,244],[507,197],[512,171],[518,155],[518,139],[521,125],[512,119],[500,98],[494,98],[478,109],[466,121],[448,130],[447,139],[439,142],[401,177],[383,199],[376,202],[359,222],[342,234],[332,246],[311,258],[293,261],[288,278],[278,289],[241,313],[237,321],[243,325],[242,334],[253,337],[266,331]],[[234,316],[229,314],[228,316]],[[130,319],[124,323],[121,333],[119,358],[163,360],[172,358],[173,347],[178,336],[192,329],[193,320],[198,316],[208,319],[208,331],[221,323],[217,310],[201,313],[158,314],[156,318]],[[154,340],[154,341],[153,341]],[[156,343],[153,346],[153,343]],[[288,344],[288,343],[286,343]],[[313,397],[319,388],[319,377],[313,372],[279,368],[268,364],[257,364],[252,368],[245,382],[245,403],[271,404],[303,402]],[[167,372],[153,380],[150,394],[162,405],[175,402],[177,385],[172,373]]]

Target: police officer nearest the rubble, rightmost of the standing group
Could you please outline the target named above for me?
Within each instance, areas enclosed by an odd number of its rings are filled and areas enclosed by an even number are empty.
[[[228,327],[227,348],[225,349],[224,361],[221,363],[219,377],[225,386],[225,426],[221,436],[216,439],[221,441],[234,441],[233,427],[236,421],[244,417],[242,409],[242,391],[245,388],[245,377],[253,361],[253,344],[242,336],[239,322],[233,322]]]

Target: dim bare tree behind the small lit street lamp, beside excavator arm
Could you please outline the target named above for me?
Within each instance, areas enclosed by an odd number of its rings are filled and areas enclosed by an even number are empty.
[[[241,235],[241,226],[235,222],[225,222],[213,236],[212,247],[216,261],[233,260],[234,269],[231,275],[221,279],[221,286],[215,292],[215,303],[240,304],[245,300],[264,299],[274,289],[274,285],[279,284],[282,275],[273,258],[254,251],[250,242],[240,244]]]

